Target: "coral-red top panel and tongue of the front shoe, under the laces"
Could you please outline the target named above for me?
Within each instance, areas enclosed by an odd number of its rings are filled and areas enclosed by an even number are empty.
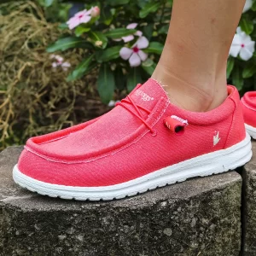
[[[151,111],[161,97],[166,96],[165,90],[154,79],[149,79],[145,84],[131,91],[132,100],[143,108]],[[137,113],[132,104],[125,103]],[[143,118],[148,118],[148,113],[142,110]],[[84,159],[84,154],[103,155],[102,152],[113,152],[117,144],[125,142],[139,127],[143,125],[142,120],[138,119],[127,109],[117,106],[108,113],[102,115],[96,122],[88,125],[80,131],[74,131],[67,137],[49,141],[40,145],[41,150],[50,152],[53,155],[61,155],[72,159]],[[125,142],[124,145],[126,145]],[[67,146],[69,145],[69,146]],[[75,150],[73,149],[75,145]],[[115,149],[113,149],[115,148]]]

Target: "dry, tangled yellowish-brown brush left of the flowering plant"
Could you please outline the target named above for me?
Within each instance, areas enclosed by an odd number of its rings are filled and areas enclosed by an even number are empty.
[[[45,49],[62,31],[38,4],[13,1],[0,9],[0,150],[108,111],[96,93],[96,71],[67,83],[67,71],[53,69]],[[73,49],[63,58],[76,66],[86,54]]]

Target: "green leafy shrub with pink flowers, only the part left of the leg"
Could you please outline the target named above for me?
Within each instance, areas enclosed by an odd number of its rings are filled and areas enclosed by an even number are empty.
[[[97,67],[97,89],[102,102],[107,104],[115,90],[129,92],[153,73],[166,40],[172,1],[107,0],[84,3],[85,10],[79,13],[84,22],[78,25],[78,18],[69,20],[72,35],[65,36],[65,29],[63,36],[47,50],[52,53],[74,48],[87,49],[88,54],[69,73],[67,81],[81,79],[84,74],[90,73],[91,68]],[[123,50],[129,49],[131,54],[134,53],[133,58],[128,55],[127,60],[123,60],[120,55]]]

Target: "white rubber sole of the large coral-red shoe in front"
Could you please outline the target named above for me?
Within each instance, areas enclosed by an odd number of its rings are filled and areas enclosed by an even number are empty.
[[[14,168],[15,183],[21,187],[38,192],[40,195],[74,199],[79,201],[108,201],[144,193],[177,182],[183,182],[189,177],[204,177],[221,172],[234,170],[245,165],[252,158],[251,137],[247,137],[236,145],[203,154],[190,160],[167,166],[129,182],[105,187],[71,187],[44,183],[21,173]]]

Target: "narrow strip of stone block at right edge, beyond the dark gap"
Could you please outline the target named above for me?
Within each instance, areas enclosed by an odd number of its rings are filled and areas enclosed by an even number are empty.
[[[243,255],[256,255],[256,142],[253,141],[253,159],[244,166],[242,241]]]

